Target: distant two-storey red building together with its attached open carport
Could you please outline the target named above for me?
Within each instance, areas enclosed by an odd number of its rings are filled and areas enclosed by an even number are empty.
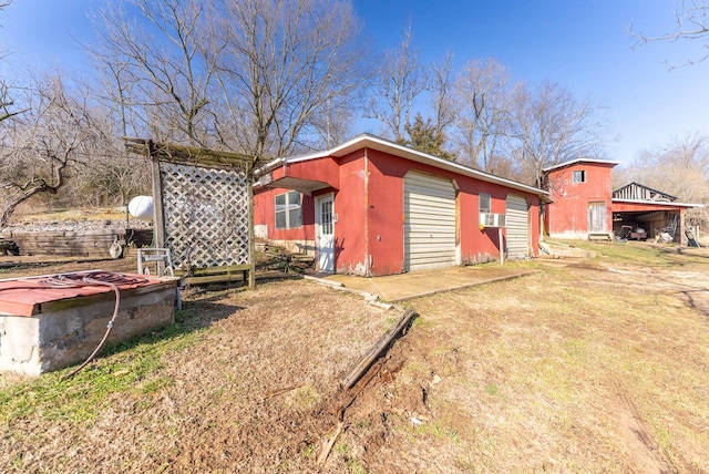
[[[638,183],[613,190],[616,165],[579,158],[545,168],[551,199],[543,213],[545,234],[552,238],[613,239],[630,229],[636,238],[665,233],[684,243],[687,209],[701,205],[678,203],[674,196]]]

